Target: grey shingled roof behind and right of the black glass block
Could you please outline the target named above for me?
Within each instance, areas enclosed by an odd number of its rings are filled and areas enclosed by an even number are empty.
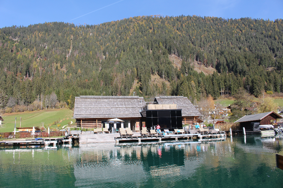
[[[155,97],[158,104],[177,104],[178,109],[182,109],[182,116],[202,116],[197,108],[191,103],[188,97],[183,96],[159,96]]]

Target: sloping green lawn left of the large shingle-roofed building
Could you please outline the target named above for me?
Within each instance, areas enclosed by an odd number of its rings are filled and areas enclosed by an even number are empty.
[[[16,127],[20,126],[20,117],[22,117],[21,127],[41,127],[42,122],[44,122],[45,128],[53,128],[57,129],[57,125],[60,124],[61,128],[64,125],[67,125],[68,122],[72,121],[75,123],[75,119],[71,119],[73,117],[74,112],[70,109],[48,109],[48,110],[40,110],[33,112],[18,112],[18,113],[6,113],[2,117],[4,119],[3,123],[5,123],[4,128],[0,128],[0,132],[12,132],[15,127],[15,118]],[[62,122],[60,123],[60,120]],[[52,125],[53,122],[59,122],[56,125]],[[18,129],[16,129],[17,131]]]

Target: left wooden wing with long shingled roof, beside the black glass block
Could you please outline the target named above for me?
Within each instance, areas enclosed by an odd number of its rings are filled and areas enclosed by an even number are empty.
[[[142,107],[146,105],[143,97],[138,96],[80,96],[75,97],[74,118],[81,128],[109,128],[141,125]],[[109,122],[119,118],[124,122]],[[104,124],[104,126],[103,126]]]

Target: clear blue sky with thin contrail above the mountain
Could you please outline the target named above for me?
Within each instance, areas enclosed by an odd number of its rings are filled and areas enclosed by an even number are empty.
[[[200,15],[202,17],[214,16],[222,18],[251,17],[263,18],[264,20],[283,18],[283,0],[118,1],[0,0],[0,28],[12,25],[28,26],[54,21],[94,25],[134,16],[158,14],[164,16]]]

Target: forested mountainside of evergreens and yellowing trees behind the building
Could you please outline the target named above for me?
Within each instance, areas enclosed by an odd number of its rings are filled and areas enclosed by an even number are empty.
[[[9,106],[54,107],[58,100],[72,108],[79,95],[130,95],[135,79],[144,97],[158,92],[194,101],[233,95],[241,86],[258,96],[283,92],[282,52],[281,19],[142,16],[12,26],[0,29],[0,86]],[[169,55],[182,59],[180,70]],[[217,72],[197,73],[195,60]],[[170,88],[154,84],[154,74]]]

